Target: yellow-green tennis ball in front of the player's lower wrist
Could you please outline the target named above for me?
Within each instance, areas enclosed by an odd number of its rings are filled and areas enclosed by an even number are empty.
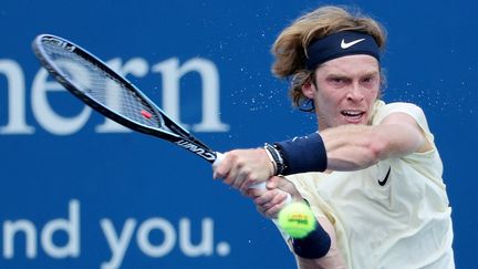
[[[315,225],[315,217],[304,203],[289,204],[279,211],[279,226],[292,238],[304,238]]]

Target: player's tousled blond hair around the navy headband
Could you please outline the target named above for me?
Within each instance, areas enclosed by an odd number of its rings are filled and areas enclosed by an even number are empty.
[[[280,33],[271,50],[276,56],[272,73],[281,79],[292,77],[289,95],[294,106],[300,107],[309,101],[302,94],[302,85],[311,82],[314,74],[305,68],[308,46],[315,40],[347,30],[367,33],[381,50],[385,46],[386,32],[377,21],[360,11],[335,6],[321,7],[305,13]],[[382,74],[382,84],[384,83]]]

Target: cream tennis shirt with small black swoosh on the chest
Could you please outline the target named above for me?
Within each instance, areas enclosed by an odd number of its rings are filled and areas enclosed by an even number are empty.
[[[356,172],[287,178],[316,216],[325,216],[334,225],[349,268],[455,268],[443,164],[423,111],[408,103],[378,101],[372,124],[397,112],[416,120],[433,151],[382,161]]]

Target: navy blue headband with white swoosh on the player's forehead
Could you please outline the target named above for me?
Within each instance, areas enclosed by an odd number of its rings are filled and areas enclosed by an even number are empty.
[[[366,54],[380,61],[380,49],[372,35],[363,32],[342,31],[319,39],[309,45],[305,66],[313,71],[326,61],[354,54]]]

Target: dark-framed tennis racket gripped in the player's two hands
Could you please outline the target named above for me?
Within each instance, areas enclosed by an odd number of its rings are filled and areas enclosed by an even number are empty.
[[[74,96],[104,116],[143,134],[174,143],[212,166],[224,155],[169,118],[142,91],[81,46],[51,34],[38,35],[33,51],[49,73]],[[266,188],[266,183],[251,186]]]

